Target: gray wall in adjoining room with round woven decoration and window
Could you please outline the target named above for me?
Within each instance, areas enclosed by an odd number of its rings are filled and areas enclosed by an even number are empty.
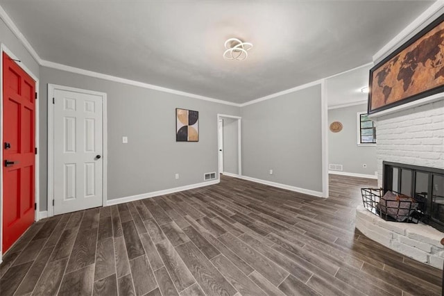
[[[343,165],[343,172],[375,174],[377,171],[376,146],[357,145],[357,113],[366,112],[366,104],[328,110],[328,124],[339,121],[342,131],[328,131],[328,162]],[[364,168],[363,164],[367,165]]]

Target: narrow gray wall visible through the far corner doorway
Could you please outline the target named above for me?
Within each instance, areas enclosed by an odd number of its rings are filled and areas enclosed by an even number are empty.
[[[237,120],[223,118],[223,172],[239,174]]]

